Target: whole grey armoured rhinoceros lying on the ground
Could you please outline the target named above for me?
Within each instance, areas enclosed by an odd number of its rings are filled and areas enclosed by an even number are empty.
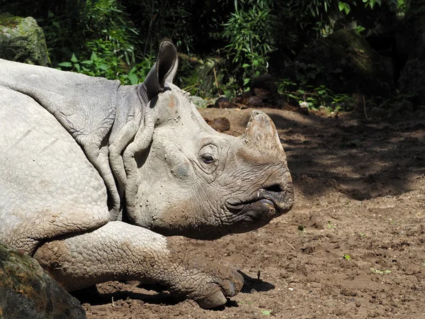
[[[69,291],[140,280],[221,306],[242,276],[164,235],[242,233],[293,205],[271,119],[254,111],[241,137],[217,133],[176,69],[169,42],[134,86],[0,60],[0,241]]]

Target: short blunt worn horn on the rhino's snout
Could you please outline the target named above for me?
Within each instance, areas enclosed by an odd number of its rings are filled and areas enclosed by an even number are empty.
[[[276,157],[285,154],[273,121],[261,111],[251,113],[242,138],[261,153]]]

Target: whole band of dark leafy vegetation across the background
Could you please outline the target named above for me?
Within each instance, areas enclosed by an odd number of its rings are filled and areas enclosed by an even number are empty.
[[[203,95],[198,89],[203,79],[191,73],[193,61],[214,58],[220,63],[214,67],[217,80],[208,97],[236,96],[248,90],[253,79],[269,73],[288,101],[350,109],[358,100],[353,94],[380,105],[414,96],[399,91],[397,81],[423,31],[422,2],[0,0],[0,13],[37,19],[53,67],[137,84],[152,67],[160,41],[167,38],[181,53],[178,84],[192,94]],[[354,30],[380,57],[389,59],[395,86],[386,96],[376,100],[363,89],[338,91],[326,81],[318,85],[316,79],[329,69],[318,62],[299,63],[295,73],[288,73],[288,65],[306,47],[341,29]],[[346,103],[336,103],[343,100]]]

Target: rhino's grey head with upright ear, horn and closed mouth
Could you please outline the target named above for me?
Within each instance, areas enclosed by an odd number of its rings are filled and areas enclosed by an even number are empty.
[[[135,155],[140,182],[126,195],[132,222],[164,235],[213,239],[288,212],[292,180],[271,118],[253,111],[239,138],[217,133],[171,83],[176,68],[174,45],[162,43],[141,86],[154,132],[148,149]]]

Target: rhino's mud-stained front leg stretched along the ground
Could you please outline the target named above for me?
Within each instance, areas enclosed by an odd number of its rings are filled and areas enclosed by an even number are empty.
[[[172,237],[122,222],[46,242],[34,257],[69,291],[110,280],[148,280],[212,308],[243,285],[242,276],[227,267],[188,259]]]

